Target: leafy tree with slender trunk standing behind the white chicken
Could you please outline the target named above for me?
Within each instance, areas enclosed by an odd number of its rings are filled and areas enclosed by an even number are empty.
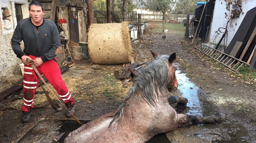
[[[145,8],[150,11],[162,12],[163,13],[163,27],[165,27],[165,17],[167,12],[171,9],[173,5],[173,0],[147,0],[147,2],[142,2]]]

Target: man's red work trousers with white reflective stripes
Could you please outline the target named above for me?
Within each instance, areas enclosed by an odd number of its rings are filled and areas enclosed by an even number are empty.
[[[35,56],[29,55],[32,59],[35,59]],[[50,84],[55,88],[61,99],[65,103],[71,102],[73,105],[74,101],[65,85],[59,65],[54,59],[46,61],[37,67],[39,73],[45,76]],[[30,108],[34,108],[34,96],[37,90],[39,79],[31,67],[31,65],[24,65],[24,81],[23,81],[23,101],[24,105],[22,106],[22,111],[30,111]]]

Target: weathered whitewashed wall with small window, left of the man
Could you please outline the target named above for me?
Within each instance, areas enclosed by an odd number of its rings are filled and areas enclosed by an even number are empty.
[[[16,57],[10,43],[17,19],[29,16],[28,0],[1,0],[0,8],[0,82],[4,82],[21,73],[19,64],[22,62]],[[18,11],[15,12],[15,9]]]

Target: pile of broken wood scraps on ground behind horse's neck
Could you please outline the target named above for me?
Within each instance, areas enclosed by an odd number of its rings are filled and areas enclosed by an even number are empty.
[[[119,73],[119,71],[115,71],[115,78],[122,80],[123,87],[128,87],[132,84],[132,82],[130,82],[131,79],[139,75],[139,70],[143,68],[143,65],[145,63],[148,63],[148,62],[144,62],[144,63],[135,62],[128,66],[123,65],[121,74]]]

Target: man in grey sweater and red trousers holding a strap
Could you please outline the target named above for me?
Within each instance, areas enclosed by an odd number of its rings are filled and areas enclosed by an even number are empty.
[[[21,120],[26,123],[32,116],[33,99],[39,82],[31,64],[34,64],[39,73],[48,79],[64,101],[67,109],[74,114],[74,100],[63,82],[61,71],[55,58],[56,50],[61,46],[58,29],[52,21],[43,18],[45,12],[41,2],[31,2],[29,4],[29,14],[29,18],[18,22],[11,39],[14,53],[24,63],[24,105],[22,106]],[[23,51],[20,47],[22,40],[24,42]],[[33,60],[33,63],[27,63],[27,58]],[[72,117],[69,112],[67,112],[67,117]]]

